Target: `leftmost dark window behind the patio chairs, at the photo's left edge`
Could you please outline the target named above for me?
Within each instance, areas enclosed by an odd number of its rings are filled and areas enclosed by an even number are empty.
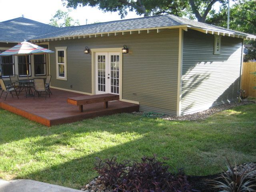
[[[4,51],[0,51],[2,53]],[[14,56],[1,56],[0,57],[0,72],[2,77],[9,77],[14,75]]]

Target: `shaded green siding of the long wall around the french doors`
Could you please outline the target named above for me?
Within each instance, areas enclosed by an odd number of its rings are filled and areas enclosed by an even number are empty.
[[[91,93],[91,54],[84,54],[84,46],[116,48],[126,44],[129,53],[123,54],[123,99],[140,102],[140,110],[176,114],[178,34],[177,29],[52,41],[51,50],[67,46],[67,81],[56,79],[54,53],[50,54],[51,85]]]

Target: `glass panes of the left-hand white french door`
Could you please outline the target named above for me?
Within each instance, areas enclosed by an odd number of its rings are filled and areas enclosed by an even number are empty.
[[[106,56],[98,55],[98,91],[106,91]]]

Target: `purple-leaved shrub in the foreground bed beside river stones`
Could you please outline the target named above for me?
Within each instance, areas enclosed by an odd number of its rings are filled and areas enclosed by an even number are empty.
[[[143,157],[141,162],[116,162],[116,158],[98,159],[94,168],[106,186],[115,192],[190,192],[191,187],[183,170],[173,174],[166,162],[156,156]]]

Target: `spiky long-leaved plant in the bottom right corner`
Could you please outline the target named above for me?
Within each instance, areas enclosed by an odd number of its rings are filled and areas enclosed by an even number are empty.
[[[246,169],[242,174],[234,171],[230,161],[226,158],[228,164],[228,171],[226,172],[223,167],[224,173],[210,183],[214,189],[219,192],[256,192],[256,179],[249,175],[256,172],[256,170],[246,174]]]

